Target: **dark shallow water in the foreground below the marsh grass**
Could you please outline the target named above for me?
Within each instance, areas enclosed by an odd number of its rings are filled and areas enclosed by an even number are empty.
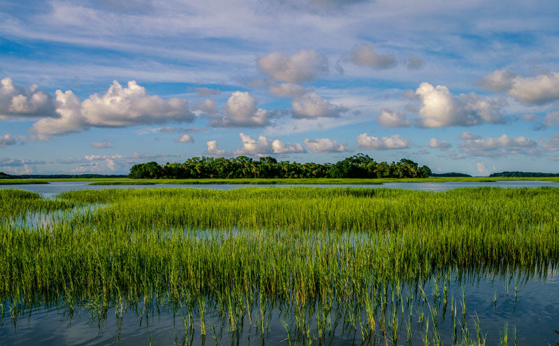
[[[518,345],[554,345],[559,341],[559,335],[553,331],[559,327],[558,275],[559,271],[555,270],[550,271],[547,277],[532,277],[527,281],[517,275],[513,275],[512,278],[478,275],[462,282],[457,282],[454,277],[449,282],[446,307],[442,303],[442,282],[438,284],[437,289],[433,281],[425,285],[424,291],[427,296],[425,302],[422,301],[421,292],[418,294],[414,292],[414,288],[405,286],[402,289],[404,313],[399,317],[398,345],[424,345],[427,321],[430,322],[429,339],[433,343],[433,319],[428,310],[429,306],[437,307],[437,329],[442,345],[452,345],[452,299],[457,308],[459,335],[460,324],[463,323],[462,291],[465,292],[465,320],[470,338],[475,339],[475,324],[479,321],[481,331],[486,338],[486,345],[499,344],[505,324],[508,324],[510,345],[514,345],[515,328]],[[435,291],[440,292],[438,303],[434,298]],[[412,298],[414,315],[409,329],[412,335],[411,341],[406,340],[408,333],[406,325],[410,321],[409,306],[405,303],[407,296],[414,296]],[[400,311],[402,305],[397,308]],[[443,311],[445,311],[444,318]],[[242,333],[231,333],[226,319],[218,318],[217,310],[210,309],[206,313],[207,335],[203,338],[198,317],[194,317],[194,332],[188,331],[185,336],[184,320],[180,313],[173,316],[170,308],[165,306],[159,312],[156,309],[145,312],[145,308],[141,306],[138,310],[128,308],[122,317],[122,322],[119,322],[114,308],[110,308],[106,317],[101,318],[92,315],[85,308],[76,310],[72,317],[65,314],[64,310],[50,308],[33,311],[31,315],[26,312],[26,315],[20,316],[15,325],[6,315],[3,318],[3,326],[0,327],[0,345],[149,345],[150,343],[152,345],[174,343],[179,345],[249,345],[250,343],[289,345],[282,321],[286,322],[290,329],[291,344],[307,344],[301,338],[294,337],[296,331],[294,331],[293,311],[280,311],[279,308],[274,308],[269,315],[270,322],[266,324],[263,335],[256,325],[258,323],[256,321],[259,320],[257,307],[254,307],[252,312],[252,326],[245,316]],[[390,312],[386,314],[387,322],[389,319],[391,319]],[[388,333],[391,333],[390,328],[387,327]],[[377,330],[377,345],[385,344],[382,334]],[[324,336],[322,340],[317,339],[316,323],[313,323],[310,336],[312,345],[363,345],[360,330],[350,329],[343,333],[341,321],[335,331],[331,335]],[[391,341],[389,345],[392,345]]]

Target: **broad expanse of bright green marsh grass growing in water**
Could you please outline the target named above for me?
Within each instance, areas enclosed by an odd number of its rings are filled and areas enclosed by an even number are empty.
[[[31,195],[0,196],[2,210],[37,210]],[[93,301],[122,313],[123,301],[155,299],[194,313],[205,334],[207,308],[233,331],[248,316],[264,332],[266,310],[279,307],[303,338],[310,324],[324,335],[337,318],[363,340],[395,345],[402,320],[422,313],[405,305],[405,287],[419,298],[417,287],[440,277],[447,287],[451,275],[530,277],[559,264],[557,188],[106,189],[54,203],[103,206],[46,227],[0,215],[2,311]],[[446,288],[437,291],[446,310]],[[433,304],[421,328],[436,343]],[[457,324],[453,309],[456,337],[470,345],[466,312]],[[191,315],[184,321],[194,328]]]

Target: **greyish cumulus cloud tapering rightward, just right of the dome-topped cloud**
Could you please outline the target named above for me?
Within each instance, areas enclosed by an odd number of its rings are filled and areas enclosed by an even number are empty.
[[[296,97],[291,106],[296,118],[338,117],[347,112],[347,108],[337,106],[314,92]]]

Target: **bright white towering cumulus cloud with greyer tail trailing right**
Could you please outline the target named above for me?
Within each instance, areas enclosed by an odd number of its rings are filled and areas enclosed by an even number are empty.
[[[433,87],[423,82],[415,93],[422,103],[418,115],[423,127],[471,126],[504,121],[500,102],[473,92],[456,97],[443,85]]]

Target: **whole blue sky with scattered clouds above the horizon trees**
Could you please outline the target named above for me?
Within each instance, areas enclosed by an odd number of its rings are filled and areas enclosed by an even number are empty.
[[[551,1],[0,0],[0,171],[359,152],[559,173]]]

